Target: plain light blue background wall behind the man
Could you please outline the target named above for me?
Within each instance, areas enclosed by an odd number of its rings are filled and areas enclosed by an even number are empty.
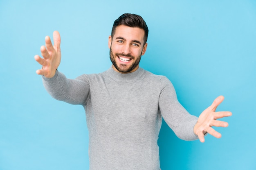
[[[88,169],[83,107],[45,91],[40,54],[61,33],[59,70],[68,78],[110,68],[108,35],[123,13],[144,17],[148,49],[140,66],[167,76],[193,115],[219,95],[228,128],[206,142],[178,139],[163,122],[162,170],[256,169],[255,0],[0,0],[0,170]]]

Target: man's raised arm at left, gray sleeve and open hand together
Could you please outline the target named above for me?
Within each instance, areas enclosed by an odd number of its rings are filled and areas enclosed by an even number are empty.
[[[68,79],[56,69],[61,62],[61,36],[58,31],[53,33],[54,45],[49,36],[45,37],[45,46],[41,46],[42,58],[35,55],[35,60],[42,65],[36,73],[43,75],[43,85],[47,92],[55,99],[68,102],[73,105],[84,105],[90,92],[88,79]]]

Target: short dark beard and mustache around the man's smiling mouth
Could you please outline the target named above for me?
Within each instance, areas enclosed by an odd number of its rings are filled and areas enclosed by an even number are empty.
[[[142,54],[142,51],[141,51]],[[139,61],[141,59],[141,54],[138,56],[138,58],[130,65],[128,66],[127,64],[120,64],[119,66],[117,65],[117,62],[115,61],[115,56],[124,56],[124,57],[130,57],[132,60],[135,59],[134,56],[132,56],[131,54],[122,54],[122,53],[116,53],[115,55],[112,52],[111,46],[110,46],[110,60],[112,62],[112,64],[114,65],[114,67],[121,73],[128,73],[131,72],[133,69],[135,69],[137,67],[137,65],[139,65]]]

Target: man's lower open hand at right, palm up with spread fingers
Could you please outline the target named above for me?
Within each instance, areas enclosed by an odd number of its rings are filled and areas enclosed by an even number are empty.
[[[229,124],[217,120],[219,118],[224,118],[231,116],[232,113],[229,111],[219,111],[216,112],[218,105],[224,100],[223,96],[217,97],[210,107],[205,109],[198,118],[198,122],[194,126],[194,133],[198,135],[200,142],[204,142],[204,135],[209,133],[214,137],[220,138],[221,134],[215,131],[212,126],[216,127],[227,127]]]

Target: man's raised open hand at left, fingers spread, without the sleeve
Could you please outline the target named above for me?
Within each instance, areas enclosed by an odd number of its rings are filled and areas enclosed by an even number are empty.
[[[43,58],[39,55],[34,57],[42,65],[42,69],[36,70],[36,73],[46,78],[52,78],[61,63],[61,36],[58,31],[53,32],[53,41],[54,45],[52,45],[50,37],[46,36],[45,46],[40,48]]]

